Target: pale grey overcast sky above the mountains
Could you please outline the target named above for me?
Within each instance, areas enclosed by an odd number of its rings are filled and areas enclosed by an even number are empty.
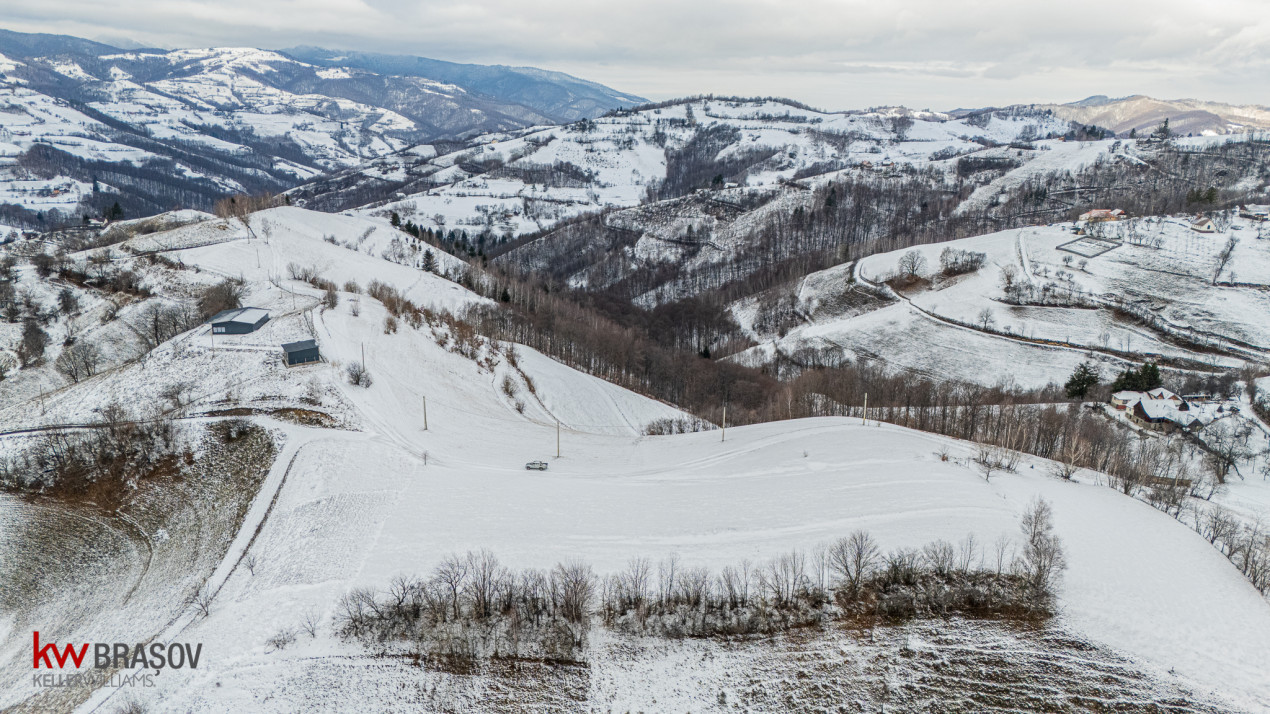
[[[650,99],[1270,104],[1267,0],[0,0],[0,27],[112,44],[318,44],[531,65]]]

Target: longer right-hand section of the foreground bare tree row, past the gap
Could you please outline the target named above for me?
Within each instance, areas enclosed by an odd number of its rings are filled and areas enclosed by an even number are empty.
[[[842,617],[1045,617],[1066,567],[1050,506],[1033,502],[1020,530],[1021,544],[1002,536],[991,551],[972,534],[889,553],[855,531],[718,573],[676,556],[655,567],[634,558],[601,581],[599,615],[622,631],[663,637],[770,634]]]

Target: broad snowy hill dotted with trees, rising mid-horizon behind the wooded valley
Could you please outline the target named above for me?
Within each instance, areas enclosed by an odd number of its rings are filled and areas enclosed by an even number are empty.
[[[984,145],[1030,141],[1069,131],[1044,114],[950,119],[907,109],[820,112],[777,100],[705,99],[618,112],[563,127],[490,135],[439,156],[405,152],[321,179],[295,192],[330,202],[362,183],[401,194],[375,215],[396,212],[425,227],[516,236],[579,213],[673,197],[668,155],[709,159],[740,188],[773,188],[808,175],[893,165],[922,168]],[[705,177],[709,183],[712,177]],[[678,189],[685,193],[696,184]],[[715,188],[724,188],[716,185]],[[381,188],[382,191],[382,188]]]

